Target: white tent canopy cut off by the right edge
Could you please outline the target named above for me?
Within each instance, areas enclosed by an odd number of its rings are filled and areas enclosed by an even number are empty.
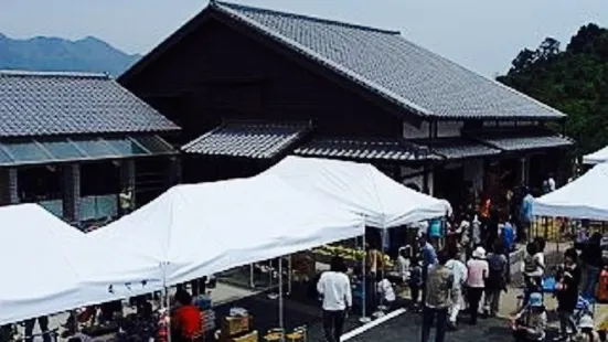
[[[537,216],[608,221],[608,163],[595,165],[572,183],[534,201]]]

